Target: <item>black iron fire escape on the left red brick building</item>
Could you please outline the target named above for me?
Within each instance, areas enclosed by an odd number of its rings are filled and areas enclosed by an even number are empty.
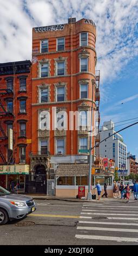
[[[4,122],[6,120],[13,120],[13,113],[12,109],[7,108],[5,109],[5,97],[9,97],[10,99],[13,99],[14,93],[13,93],[13,87],[8,87],[7,84],[1,83],[0,80],[0,162],[2,160],[2,164],[8,164],[5,158],[4,153],[4,146],[5,144],[8,144],[7,139],[8,136],[5,132],[5,124]]]

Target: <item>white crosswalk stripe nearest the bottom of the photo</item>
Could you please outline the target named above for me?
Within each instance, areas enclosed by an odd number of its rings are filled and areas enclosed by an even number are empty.
[[[108,240],[117,242],[138,242],[136,237],[118,237],[118,236],[101,236],[101,235],[75,235],[78,239],[96,239],[98,240]]]

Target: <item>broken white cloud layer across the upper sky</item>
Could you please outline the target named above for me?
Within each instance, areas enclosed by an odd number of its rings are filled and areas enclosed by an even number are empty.
[[[0,0],[1,62],[31,58],[32,27],[67,23],[68,17],[97,25],[97,69],[111,81],[138,53],[137,0]]]

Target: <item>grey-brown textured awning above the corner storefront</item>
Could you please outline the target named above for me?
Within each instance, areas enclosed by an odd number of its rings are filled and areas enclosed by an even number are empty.
[[[89,164],[59,164],[56,176],[85,176],[89,173]]]

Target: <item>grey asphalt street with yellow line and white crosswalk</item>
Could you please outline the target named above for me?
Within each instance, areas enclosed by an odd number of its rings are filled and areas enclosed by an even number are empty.
[[[31,215],[0,226],[0,245],[138,245],[138,202],[35,203]]]

